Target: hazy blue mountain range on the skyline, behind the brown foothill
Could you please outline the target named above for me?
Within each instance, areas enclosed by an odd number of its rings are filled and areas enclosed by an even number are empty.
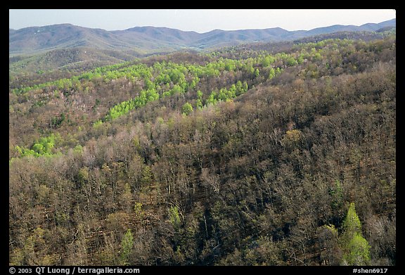
[[[313,30],[288,31],[280,27],[263,30],[212,30],[200,34],[167,27],[132,27],[127,30],[106,31],[70,24],[9,29],[8,53],[39,53],[55,49],[89,47],[101,50],[132,50],[139,53],[169,52],[179,49],[207,49],[255,41],[294,40],[332,32],[374,32],[383,27],[395,27],[396,19],[361,26],[333,25]]]

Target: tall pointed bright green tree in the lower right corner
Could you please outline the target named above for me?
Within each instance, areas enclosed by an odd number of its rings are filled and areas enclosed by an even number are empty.
[[[361,234],[361,222],[356,214],[354,203],[350,203],[347,216],[343,222],[341,238],[343,262],[348,265],[367,265],[370,262],[370,248],[367,240]]]

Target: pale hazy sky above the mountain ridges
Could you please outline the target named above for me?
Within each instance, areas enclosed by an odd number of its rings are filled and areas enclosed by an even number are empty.
[[[9,27],[37,27],[70,23],[104,30],[154,26],[195,32],[282,27],[285,30],[311,30],[329,25],[363,25],[396,18],[395,10],[9,10]]]

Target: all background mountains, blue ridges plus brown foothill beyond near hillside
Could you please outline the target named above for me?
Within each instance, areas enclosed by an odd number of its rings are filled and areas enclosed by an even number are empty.
[[[337,25],[309,31],[290,32],[275,27],[264,30],[212,30],[203,34],[167,27],[106,31],[70,24],[10,29],[9,70],[13,75],[77,68],[89,70],[157,53],[212,51],[251,42],[320,41],[330,38],[369,41],[382,39],[387,32],[392,32],[390,28],[395,30],[395,24],[394,19],[379,24]]]

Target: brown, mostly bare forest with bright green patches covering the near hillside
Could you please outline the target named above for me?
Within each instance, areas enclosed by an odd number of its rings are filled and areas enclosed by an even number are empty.
[[[396,34],[9,76],[11,265],[395,265]]]

